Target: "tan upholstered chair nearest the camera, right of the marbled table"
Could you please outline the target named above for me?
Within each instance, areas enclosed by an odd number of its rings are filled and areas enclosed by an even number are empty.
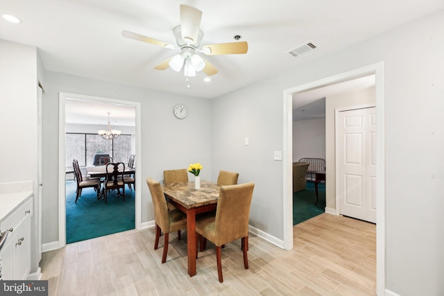
[[[216,216],[207,216],[196,220],[198,236],[203,236],[216,245],[217,273],[221,283],[223,282],[222,245],[241,238],[244,267],[248,269],[248,220],[254,188],[254,183],[221,186]],[[196,252],[198,250],[198,236],[196,236]]]

